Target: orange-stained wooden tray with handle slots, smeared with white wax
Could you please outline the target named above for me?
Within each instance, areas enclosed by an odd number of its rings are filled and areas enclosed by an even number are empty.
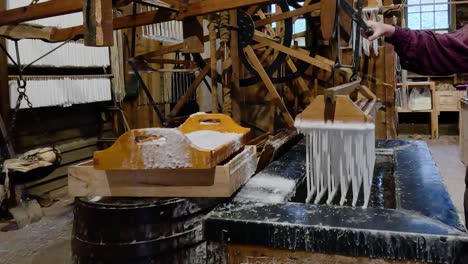
[[[187,134],[197,131],[236,133],[240,137],[223,145],[213,145],[213,148],[200,148],[187,137]],[[239,126],[229,116],[198,113],[178,128],[145,128],[126,132],[110,148],[94,152],[94,168],[211,169],[242,148],[249,134],[249,128]]]

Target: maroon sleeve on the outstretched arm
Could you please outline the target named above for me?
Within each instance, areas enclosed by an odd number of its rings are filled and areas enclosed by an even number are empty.
[[[386,42],[395,46],[403,69],[423,75],[468,72],[468,25],[446,33],[395,27]]]

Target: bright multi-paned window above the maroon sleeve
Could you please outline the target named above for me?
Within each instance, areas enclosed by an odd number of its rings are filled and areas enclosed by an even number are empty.
[[[447,0],[408,0],[407,27],[448,32],[450,10]]]

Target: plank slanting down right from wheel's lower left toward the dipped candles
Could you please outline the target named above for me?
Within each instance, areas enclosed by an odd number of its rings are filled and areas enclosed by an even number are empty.
[[[258,60],[257,55],[255,55],[255,51],[250,46],[245,47],[244,51],[247,53],[247,57],[249,58],[250,62],[253,64],[255,70],[258,72],[258,75],[260,75],[260,78],[262,79],[266,88],[270,92],[270,95],[273,97],[273,101],[275,102],[276,106],[278,106],[278,108],[281,110],[284,120],[286,121],[289,127],[293,127],[294,119],[292,118],[288,109],[284,105],[283,100],[281,100],[281,97],[278,94],[278,91],[276,91],[275,86],[271,82],[270,77],[266,73],[265,69],[263,69],[263,66]]]

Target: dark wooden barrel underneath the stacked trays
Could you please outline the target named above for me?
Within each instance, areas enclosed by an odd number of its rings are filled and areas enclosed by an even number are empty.
[[[204,263],[202,220],[220,201],[77,198],[73,263]]]

